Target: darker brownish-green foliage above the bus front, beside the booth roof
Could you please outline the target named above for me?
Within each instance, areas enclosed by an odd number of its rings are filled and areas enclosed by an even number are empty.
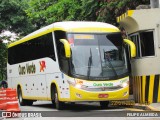
[[[85,20],[101,21],[116,25],[116,17],[149,0],[83,0]]]

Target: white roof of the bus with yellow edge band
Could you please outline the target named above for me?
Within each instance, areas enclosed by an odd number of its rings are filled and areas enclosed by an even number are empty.
[[[66,21],[66,22],[56,22],[46,27],[43,27],[24,38],[9,44],[8,48],[15,45],[21,44],[23,42],[29,41],[36,37],[45,35],[55,30],[62,30],[66,32],[74,33],[104,33],[104,32],[119,32],[119,29],[111,24],[102,22],[86,22],[86,21]]]

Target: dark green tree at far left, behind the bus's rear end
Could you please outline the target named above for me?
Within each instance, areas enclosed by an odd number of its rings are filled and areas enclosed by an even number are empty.
[[[4,30],[26,35],[33,30],[33,25],[27,19],[22,0],[0,1],[0,33]],[[3,40],[10,40],[7,36],[0,36],[0,80],[6,79],[7,45]]]

